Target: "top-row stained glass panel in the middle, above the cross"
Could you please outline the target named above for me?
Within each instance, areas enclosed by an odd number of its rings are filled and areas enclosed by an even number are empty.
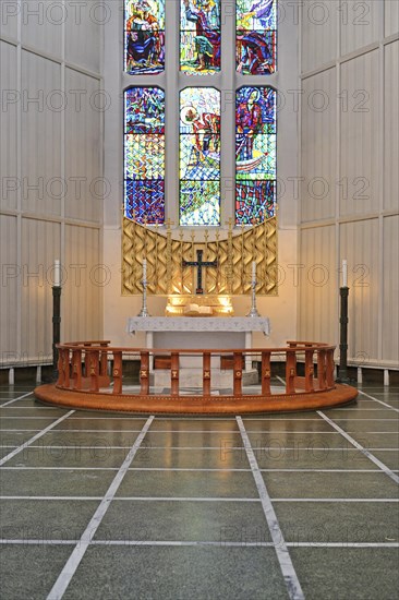
[[[220,0],[180,0],[180,70],[220,71]]]

